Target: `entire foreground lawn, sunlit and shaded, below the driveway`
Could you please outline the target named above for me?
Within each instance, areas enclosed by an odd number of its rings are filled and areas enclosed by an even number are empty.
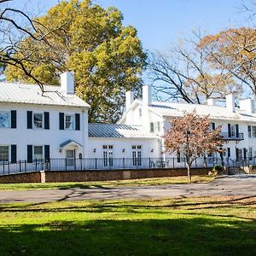
[[[256,255],[256,196],[0,205],[7,255]]]

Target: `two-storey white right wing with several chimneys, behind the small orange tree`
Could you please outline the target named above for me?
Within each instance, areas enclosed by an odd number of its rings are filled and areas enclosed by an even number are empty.
[[[119,124],[141,125],[143,131],[162,137],[170,127],[172,118],[182,117],[184,113],[192,113],[194,110],[201,116],[209,115],[213,129],[222,125],[226,139],[224,156],[231,159],[256,156],[256,114],[251,99],[241,100],[240,108],[235,107],[232,95],[226,96],[225,107],[216,106],[212,99],[208,100],[207,105],[152,102],[150,87],[145,85],[142,100],[134,100],[133,93],[126,92],[126,111]],[[164,150],[163,140],[161,149]]]

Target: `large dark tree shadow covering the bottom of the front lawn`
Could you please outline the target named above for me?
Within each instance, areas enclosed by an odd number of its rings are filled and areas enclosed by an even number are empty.
[[[0,226],[7,255],[255,255],[255,222],[210,218],[55,221]]]

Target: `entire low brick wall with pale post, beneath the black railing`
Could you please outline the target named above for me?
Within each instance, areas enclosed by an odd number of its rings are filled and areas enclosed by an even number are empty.
[[[211,168],[191,169],[191,175],[207,175],[210,170]],[[87,182],[186,175],[187,169],[185,168],[113,171],[42,171],[0,176],[0,183]]]

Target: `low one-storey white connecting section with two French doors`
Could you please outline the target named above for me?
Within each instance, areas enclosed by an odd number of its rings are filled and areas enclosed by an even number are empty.
[[[160,137],[136,125],[89,124],[89,156],[98,167],[148,167],[160,157]],[[117,160],[119,159],[119,160]]]

